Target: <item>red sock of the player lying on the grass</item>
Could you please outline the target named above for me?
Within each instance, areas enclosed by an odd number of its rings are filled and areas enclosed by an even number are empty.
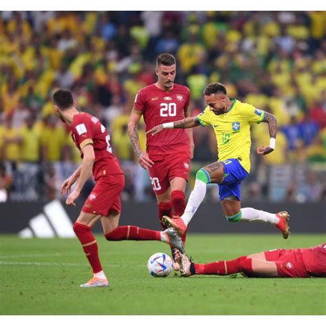
[[[241,263],[247,256],[241,256],[232,261],[215,261],[214,263],[193,264],[195,274],[230,275],[241,272]]]

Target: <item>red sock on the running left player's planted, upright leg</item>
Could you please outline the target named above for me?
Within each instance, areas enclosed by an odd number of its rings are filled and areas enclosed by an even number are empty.
[[[98,273],[102,270],[100,258],[98,257],[98,243],[91,233],[91,228],[85,224],[74,223],[74,232],[83,246],[83,250],[91,265],[93,273]]]

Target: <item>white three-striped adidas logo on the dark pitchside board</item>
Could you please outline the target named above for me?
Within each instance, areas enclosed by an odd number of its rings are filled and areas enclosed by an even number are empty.
[[[21,230],[18,235],[21,238],[75,237],[72,221],[58,200],[46,204],[43,213],[33,217],[29,226]]]

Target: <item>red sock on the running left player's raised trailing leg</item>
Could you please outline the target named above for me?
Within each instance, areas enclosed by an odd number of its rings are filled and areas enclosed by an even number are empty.
[[[161,241],[161,232],[138,228],[138,226],[118,226],[107,233],[105,238],[109,241],[121,240],[157,240]]]

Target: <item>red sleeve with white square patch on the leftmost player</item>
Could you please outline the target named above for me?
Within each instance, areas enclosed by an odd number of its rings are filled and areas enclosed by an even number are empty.
[[[93,144],[94,124],[91,123],[86,115],[80,115],[72,124],[72,133],[76,144],[83,149],[87,144]]]

